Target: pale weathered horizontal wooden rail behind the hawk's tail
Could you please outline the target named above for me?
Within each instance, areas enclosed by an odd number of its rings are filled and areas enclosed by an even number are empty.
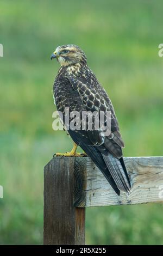
[[[88,157],[77,157],[74,204],[89,207],[163,202],[163,157],[124,157],[124,162],[132,189],[119,197]]]

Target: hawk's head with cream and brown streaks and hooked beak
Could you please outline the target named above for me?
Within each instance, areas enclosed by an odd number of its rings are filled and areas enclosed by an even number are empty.
[[[85,53],[77,45],[58,46],[52,53],[51,59],[57,58],[61,66],[86,63]]]

